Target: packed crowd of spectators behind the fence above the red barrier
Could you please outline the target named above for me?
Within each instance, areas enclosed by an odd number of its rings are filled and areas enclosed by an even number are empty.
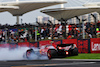
[[[36,27],[36,28],[35,28]],[[66,28],[65,28],[66,27]],[[66,29],[66,30],[65,30]],[[40,24],[38,26],[32,24],[20,24],[20,25],[0,25],[0,42],[33,42],[37,40],[44,39],[72,39],[81,38],[83,27],[79,24]],[[97,34],[100,33],[100,24],[97,24],[95,28],[95,23],[86,23],[84,26],[85,38],[95,38]]]

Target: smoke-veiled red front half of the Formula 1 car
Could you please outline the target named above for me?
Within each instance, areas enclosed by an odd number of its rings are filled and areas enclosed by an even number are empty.
[[[49,49],[55,49],[52,45],[44,45],[44,46],[41,46],[40,48],[30,48],[28,49],[23,57],[26,58],[26,59],[33,59],[33,58],[41,58],[43,56],[47,56],[47,51]]]

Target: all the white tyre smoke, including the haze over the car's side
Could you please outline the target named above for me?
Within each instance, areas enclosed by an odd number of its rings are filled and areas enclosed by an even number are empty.
[[[27,60],[23,57],[24,53],[29,49],[29,47],[18,47],[15,49],[9,48],[0,48],[0,61],[7,61],[7,60]],[[30,60],[46,60],[48,59],[47,56],[39,55],[39,54],[32,54],[30,56]]]

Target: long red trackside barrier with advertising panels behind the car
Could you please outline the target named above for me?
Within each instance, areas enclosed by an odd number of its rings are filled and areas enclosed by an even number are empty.
[[[68,44],[74,43],[78,48],[79,53],[100,53],[100,38],[91,38],[91,39],[64,39],[64,40],[47,40],[39,42],[22,42],[22,43],[8,43],[0,44],[2,48],[14,49],[17,47],[41,47],[46,45],[53,45],[54,47],[57,44]]]

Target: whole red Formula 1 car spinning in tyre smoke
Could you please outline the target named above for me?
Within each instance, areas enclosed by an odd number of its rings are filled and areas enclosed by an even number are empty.
[[[74,55],[78,55],[78,49],[75,44],[58,44],[56,47],[54,45],[44,45],[40,49],[30,48],[26,51],[24,57],[31,59],[36,56],[38,58],[47,56],[49,59],[52,59]]]

